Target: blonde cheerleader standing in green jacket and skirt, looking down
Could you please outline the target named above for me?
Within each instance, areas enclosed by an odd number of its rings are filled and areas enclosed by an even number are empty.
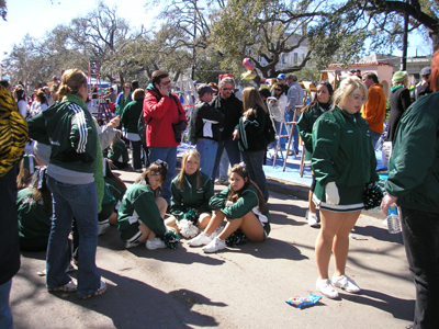
[[[322,114],[313,127],[312,167],[316,178],[313,200],[320,207],[322,228],[316,240],[317,290],[337,298],[334,288],[360,292],[345,274],[349,232],[364,207],[364,185],[378,181],[376,159],[369,124],[359,113],[368,99],[368,88],[357,77],[341,81],[334,93],[333,110]],[[334,253],[335,273],[328,266]]]

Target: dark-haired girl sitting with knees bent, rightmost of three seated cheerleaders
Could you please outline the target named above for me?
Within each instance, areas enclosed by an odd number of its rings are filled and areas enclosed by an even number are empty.
[[[270,214],[263,195],[248,177],[244,163],[235,164],[229,174],[230,184],[212,196],[209,205],[215,211],[204,232],[188,241],[191,247],[203,247],[204,252],[216,252],[226,248],[226,238],[238,228],[250,241],[261,242],[270,232]],[[213,232],[226,220],[226,226]]]

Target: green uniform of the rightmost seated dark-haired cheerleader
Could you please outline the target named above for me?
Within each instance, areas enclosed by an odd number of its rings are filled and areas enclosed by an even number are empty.
[[[218,194],[211,197],[209,205],[214,209],[221,209],[227,219],[240,218],[249,212],[254,212],[256,217],[262,224],[266,237],[270,232],[270,213],[266,206],[266,212],[262,214],[259,209],[258,191],[254,185],[249,185],[241,196],[230,206],[226,206],[227,196],[230,193],[230,185]]]

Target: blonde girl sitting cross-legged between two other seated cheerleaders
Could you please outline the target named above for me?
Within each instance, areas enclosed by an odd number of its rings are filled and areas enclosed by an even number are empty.
[[[188,150],[181,161],[181,171],[171,184],[171,217],[165,220],[185,238],[193,238],[211,220],[209,201],[213,196],[213,183],[200,170],[200,154]]]

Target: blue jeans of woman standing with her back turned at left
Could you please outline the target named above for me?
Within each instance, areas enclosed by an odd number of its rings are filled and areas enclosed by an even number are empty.
[[[68,236],[75,220],[79,232],[78,252],[78,296],[94,293],[101,281],[95,265],[98,246],[98,196],[94,182],[89,184],[67,184],[47,178],[52,191],[54,216],[48,237],[46,254],[46,285],[60,287],[71,279],[66,273],[70,262]]]

